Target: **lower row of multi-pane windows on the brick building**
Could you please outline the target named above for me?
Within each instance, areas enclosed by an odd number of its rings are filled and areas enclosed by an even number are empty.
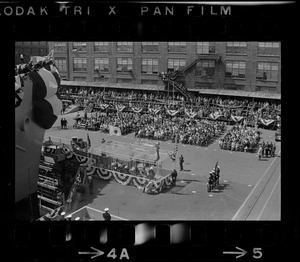
[[[67,61],[63,58],[56,58],[55,64],[60,72],[67,71]],[[168,59],[167,71],[181,70],[186,67],[185,59]],[[102,73],[109,72],[108,58],[94,58],[94,68]],[[117,58],[117,72],[130,72],[133,70],[132,58],[119,57]],[[87,71],[87,58],[75,57],[73,59],[74,72]],[[279,66],[278,63],[258,62],[256,69],[257,80],[278,81]],[[141,62],[141,73],[157,75],[158,59],[143,58]],[[215,61],[201,60],[196,64],[195,76],[214,77]],[[225,76],[232,78],[245,79],[246,62],[245,61],[226,61]]]

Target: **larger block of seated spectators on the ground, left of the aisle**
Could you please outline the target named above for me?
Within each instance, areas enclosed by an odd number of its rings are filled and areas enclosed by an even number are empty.
[[[210,144],[226,127],[225,122],[222,121],[184,119],[176,116],[162,117],[161,114],[132,112],[94,114],[91,118],[81,118],[76,125],[104,133],[109,132],[109,126],[114,126],[120,128],[122,135],[134,132],[138,138],[172,140],[172,142],[198,146]]]

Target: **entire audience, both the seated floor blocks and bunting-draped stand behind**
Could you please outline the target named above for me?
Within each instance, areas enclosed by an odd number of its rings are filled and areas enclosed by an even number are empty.
[[[85,115],[75,127],[106,133],[109,126],[114,126],[120,128],[122,135],[134,132],[139,138],[205,146],[220,136],[228,121],[235,121],[236,125],[219,140],[222,149],[231,151],[256,151],[260,134],[253,127],[257,127],[257,119],[276,121],[281,110],[280,101],[242,97],[198,95],[188,103],[183,96],[173,97],[168,92],[106,90],[104,93],[73,88],[63,94],[82,108],[89,106],[97,112],[90,118]],[[118,110],[118,106],[125,109]],[[134,107],[143,110],[136,113]],[[177,112],[170,115],[170,111]],[[192,112],[193,117],[187,117],[186,111]]]

